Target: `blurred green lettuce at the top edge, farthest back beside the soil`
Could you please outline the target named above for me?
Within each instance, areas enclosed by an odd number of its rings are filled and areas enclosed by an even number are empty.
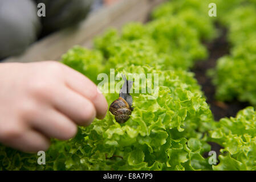
[[[190,28],[194,28],[202,40],[209,42],[218,36],[218,31],[214,26],[215,19],[208,16],[210,2],[212,1],[167,1],[153,11],[152,18],[169,17],[172,19],[177,16]]]

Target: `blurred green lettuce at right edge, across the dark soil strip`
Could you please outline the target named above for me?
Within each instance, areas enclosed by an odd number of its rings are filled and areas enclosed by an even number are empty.
[[[230,56],[221,57],[213,75],[218,100],[238,98],[256,106],[256,36],[234,47]]]

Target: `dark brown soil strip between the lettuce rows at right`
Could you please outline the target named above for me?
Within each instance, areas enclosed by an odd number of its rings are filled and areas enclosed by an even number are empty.
[[[221,102],[217,101],[215,96],[215,86],[212,84],[211,78],[206,76],[208,69],[216,67],[217,60],[229,54],[229,44],[227,43],[226,35],[227,30],[220,26],[217,26],[220,30],[220,36],[212,43],[207,43],[206,47],[209,51],[209,58],[205,61],[198,61],[192,72],[196,73],[198,84],[202,86],[202,90],[207,98],[206,102],[210,105],[210,109],[214,115],[214,119],[219,121],[224,117],[235,117],[237,112],[249,106],[249,103],[232,101],[232,102]]]

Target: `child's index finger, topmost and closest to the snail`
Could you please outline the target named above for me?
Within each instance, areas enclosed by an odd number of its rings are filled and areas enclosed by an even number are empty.
[[[108,110],[108,104],[103,96],[97,89],[97,86],[89,78],[73,69],[64,66],[66,74],[66,84],[75,92],[88,98],[94,104],[96,109],[96,117],[103,119]]]

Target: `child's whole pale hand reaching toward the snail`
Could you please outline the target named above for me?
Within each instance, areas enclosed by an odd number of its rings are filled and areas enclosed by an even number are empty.
[[[45,151],[51,137],[74,137],[76,125],[103,119],[107,109],[96,85],[64,64],[0,64],[0,142],[6,146]]]

